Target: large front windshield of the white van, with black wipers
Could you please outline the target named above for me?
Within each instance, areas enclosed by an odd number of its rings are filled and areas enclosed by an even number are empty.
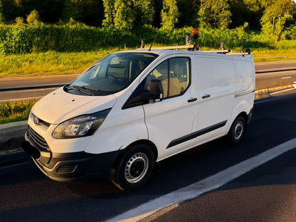
[[[78,95],[110,95],[129,86],[152,61],[154,53],[114,53],[90,66],[65,85],[64,90]]]

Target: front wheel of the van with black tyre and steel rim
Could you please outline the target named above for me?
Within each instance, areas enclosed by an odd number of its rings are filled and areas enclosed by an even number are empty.
[[[113,166],[112,182],[122,190],[137,189],[142,186],[152,174],[154,153],[144,144],[129,149]]]

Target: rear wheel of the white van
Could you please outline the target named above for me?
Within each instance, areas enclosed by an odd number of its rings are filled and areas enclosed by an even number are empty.
[[[243,136],[245,134],[245,119],[243,117],[237,117],[236,120],[234,120],[233,124],[231,125],[231,129],[229,129],[228,132],[228,138],[230,142],[233,144],[238,144],[241,139],[243,139]]]

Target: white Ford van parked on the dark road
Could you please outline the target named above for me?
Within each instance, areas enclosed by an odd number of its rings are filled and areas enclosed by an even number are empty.
[[[251,54],[112,53],[33,106],[22,147],[51,179],[134,189],[155,162],[225,135],[240,142],[254,94]]]

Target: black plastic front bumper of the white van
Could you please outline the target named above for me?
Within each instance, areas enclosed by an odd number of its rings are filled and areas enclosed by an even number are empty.
[[[53,153],[36,147],[28,132],[26,141],[21,144],[25,152],[31,155],[38,168],[56,181],[85,181],[105,179],[119,152],[89,154],[86,152]]]

